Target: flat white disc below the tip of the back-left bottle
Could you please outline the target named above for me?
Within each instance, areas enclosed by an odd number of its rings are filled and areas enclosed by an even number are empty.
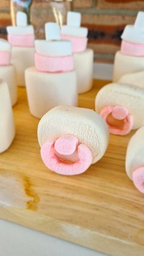
[[[7,33],[9,35],[30,35],[34,34],[34,27],[32,25],[26,27],[8,26]]]

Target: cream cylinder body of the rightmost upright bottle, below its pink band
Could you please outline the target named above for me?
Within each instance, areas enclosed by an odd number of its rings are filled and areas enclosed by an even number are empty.
[[[144,70],[144,57],[126,56],[117,51],[113,67],[113,82],[118,82],[123,75],[142,70]]]

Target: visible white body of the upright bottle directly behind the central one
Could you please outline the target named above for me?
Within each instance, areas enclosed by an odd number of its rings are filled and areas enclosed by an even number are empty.
[[[78,93],[85,93],[93,86],[93,50],[74,53],[74,69],[77,74]]]

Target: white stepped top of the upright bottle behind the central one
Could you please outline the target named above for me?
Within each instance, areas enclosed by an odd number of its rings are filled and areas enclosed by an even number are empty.
[[[68,12],[67,25],[62,26],[62,35],[71,35],[74,37],[87,37],[88,29],[81,27],[81,13]]]

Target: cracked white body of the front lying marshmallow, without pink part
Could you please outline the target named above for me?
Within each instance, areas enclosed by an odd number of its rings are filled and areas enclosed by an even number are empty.
[[[81,122],[80,122],[81,120]],[[48,139],[72,134],[92,152],[96,163],[106,152],[109,130],[104,120],[90,109],[57,106],[46,113],[38,124],[38,142],[42,146]]]

